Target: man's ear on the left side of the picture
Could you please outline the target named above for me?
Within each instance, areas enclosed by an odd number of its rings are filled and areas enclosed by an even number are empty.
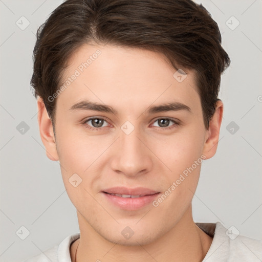
[[[47,113],[46,106],[43,103],[42,98],[40,97],[37,99],[37,107],[38,107],[37,119],[38,119],[40,137],[43,145],[45,145],[47,157],[50,160],[58,161],[59,157],[56,149],[53,125]]]

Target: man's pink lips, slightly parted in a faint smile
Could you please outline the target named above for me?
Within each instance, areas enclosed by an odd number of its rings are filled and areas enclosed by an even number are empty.
[[[106,200],[123,210],[138,210],[154,201],[160,192],[144,187],[126,188],[112,187],[101,191]],[[143,195],[139,198],[122,198],[113,194]]]

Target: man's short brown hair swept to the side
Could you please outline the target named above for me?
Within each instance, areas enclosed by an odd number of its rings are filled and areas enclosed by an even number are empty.
[[[216,109],[221,74],[230,58],[210,13],[191,0],[67,0],[37,30],[31,85],[55,123],[48,97],[61,85],[70,56],[88,43],[142,48],[164,54],[178,70],[192,69],[206,129]]]

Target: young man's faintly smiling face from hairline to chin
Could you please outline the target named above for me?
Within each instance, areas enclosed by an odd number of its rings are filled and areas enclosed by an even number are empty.
[[[148,244],[189,221],[220,120],[205,129],[193,72],[176,71],[162,55],[139,49],[85,45],[71,57],[56,98],[55,137],[44,143],[60,162],[80,231]]]

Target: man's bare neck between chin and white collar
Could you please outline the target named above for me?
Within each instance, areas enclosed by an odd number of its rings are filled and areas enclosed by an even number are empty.
[[[212,243],[212,237],[202,231],[192,220],[192,209],[189,219],[182,219],[167,233],[147,245],[119,245],[112,243],[98,234],[78,213],[81,237],[70,249],[71,260],[138,262],[154,259],[162,261],[200,262],[204,259]],[[190,219],[191,218],[191,219]],[[77,253],[76,253],[77,249]],[[74,261],[75,254],[77,260]]]

